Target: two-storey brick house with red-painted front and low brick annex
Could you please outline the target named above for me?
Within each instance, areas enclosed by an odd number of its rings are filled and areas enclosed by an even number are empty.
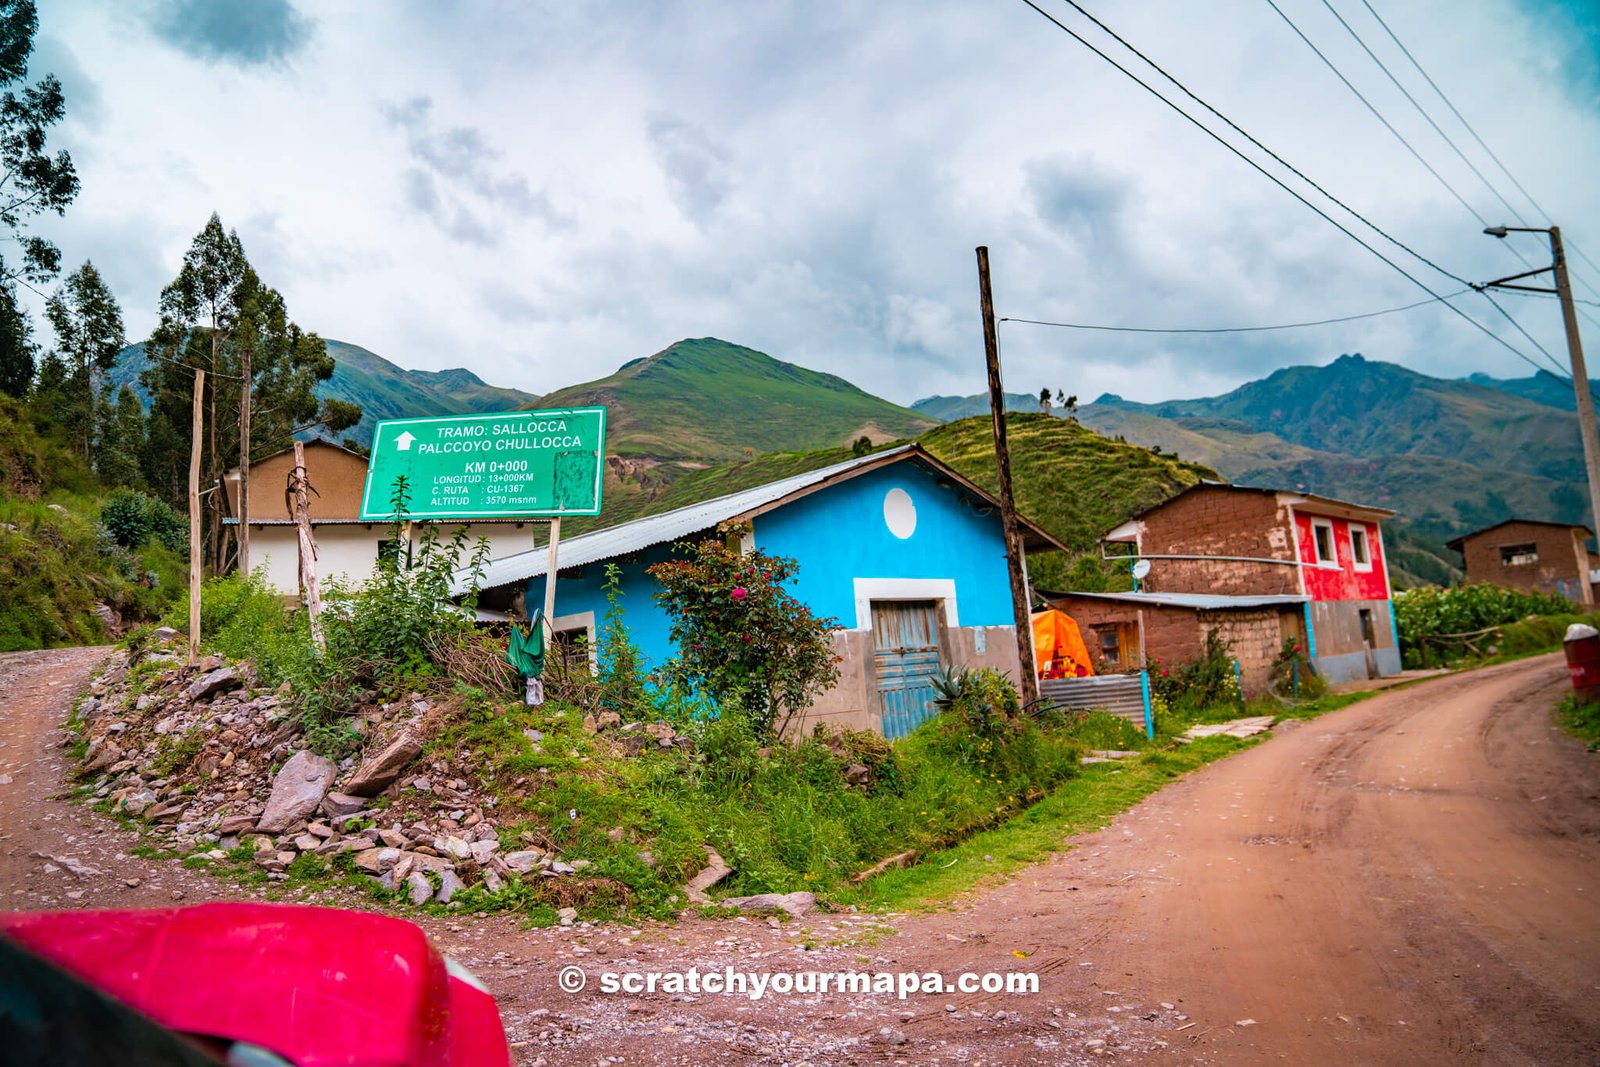
[[[1221,629],[1246,694],[1266,686],[1285,638],[1328,681],[1395,673],[1381,528],[1392,517],[1310,493],[1202,482],[1106,534],[1150,563],[1139,592],[1054,603],[1093,632],[1091,649],[1123,667],[1194,659],[1206,630]]]

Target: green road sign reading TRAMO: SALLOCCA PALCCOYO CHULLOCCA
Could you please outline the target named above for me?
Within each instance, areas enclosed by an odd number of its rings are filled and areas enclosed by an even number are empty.
[[[605,408],[387,419],[373,434],[362,518],[598,515]]]

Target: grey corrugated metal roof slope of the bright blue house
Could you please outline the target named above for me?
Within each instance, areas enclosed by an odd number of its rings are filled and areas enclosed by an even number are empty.
[[[885,461],[912,453],[923,454],[914,445],[901,445],[899,448],[890,448],[870,456],[848,459],[845,462],[834,464],[832,467],[818,467],[816,470],[806,470],[805,474],[797,474],[779,482],[758,485],[754,490],[730,493],[728,496],[712,498],[672,512],[662,512],[661,515],[646,515],[645,518],[635,518],[630,523],[610,526],[608,530],[597,530],[581,537],[573,537],[571,541],[562,541],[562,544],[555,549],[557,568],[566,569],[571,566],[584,566],[589,563],[598,563],[600,560],[613,560],[619,555],[638,552],[640,549],[648,549],[651,545],[680,541],[690,534],[710,530],[718,523],[754,512],[765,504],[781,501],[792,493],[827,482],[840,474],[846,474],[858,467],[883,464]],[[518,552],[517,555],[493,560],[486,568],[483,568],[480,587],[494,589],[498,585],[510,585],[514,582],[525,582],[530,577],[538,577],[539,574],[544,574],[547,561],[547,549],[531,549],[528,552]],[[451,592],[466,592],[464,574],[456,574]]]

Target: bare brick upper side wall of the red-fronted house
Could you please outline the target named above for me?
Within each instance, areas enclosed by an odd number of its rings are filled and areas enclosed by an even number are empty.
[[[1294,560],[1288,507],[1267,493],[1229,486],[1190,490],[1144,517],[1149,555]],[[1150,560],[1142,587],[1163,593],[1298,593],[1299,571],[1237,560]]]

